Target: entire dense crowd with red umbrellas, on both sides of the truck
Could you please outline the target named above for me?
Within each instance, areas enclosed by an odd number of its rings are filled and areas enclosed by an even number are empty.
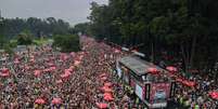
[[[81,37],[82,51],[60,53],[37,46],[2,54],[0,66],[0,109],[140,109],[139,99],[114,78],[115,60],[125,53]],[[194,87],[178,83],[175,101],[180,107],[216,109],[208,92],[217,80],[192,76]],[[200,107],[196,108],[196,105]]]

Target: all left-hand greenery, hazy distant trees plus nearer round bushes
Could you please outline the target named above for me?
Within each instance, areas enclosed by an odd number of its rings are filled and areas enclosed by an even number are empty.
[[[16,45],[37,44],[36,40],[53,39],[54,47],[62,52],[79,51],[77,27],[72,27],[63,19],[48,18],[1,18],[0,49],[10,51]],[[35,40],[35,41],[34,41]]]

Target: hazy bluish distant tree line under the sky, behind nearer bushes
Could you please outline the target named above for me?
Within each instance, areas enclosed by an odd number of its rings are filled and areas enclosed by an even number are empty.
[[[13,38],[23,30],[29,30],[35,37],[64,35],[69,30],[69,24],[63,19],[48,17],[46,19],[29,18],[3,18],[3,35],[7,38]]]

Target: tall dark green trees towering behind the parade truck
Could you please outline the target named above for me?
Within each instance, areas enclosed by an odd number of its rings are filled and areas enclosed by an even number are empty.
[[[217,0],[108,0],[91,3],[82,32],[132,47],[156,63],[167,54],[185,69],[208,69],[218,60]]]

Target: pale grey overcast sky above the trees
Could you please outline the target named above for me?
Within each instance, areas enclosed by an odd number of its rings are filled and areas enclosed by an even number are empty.
[[[55,17],[69,24],[87,22],[90,3],[107,4],[108,0],[0,0],[3,17]]]

